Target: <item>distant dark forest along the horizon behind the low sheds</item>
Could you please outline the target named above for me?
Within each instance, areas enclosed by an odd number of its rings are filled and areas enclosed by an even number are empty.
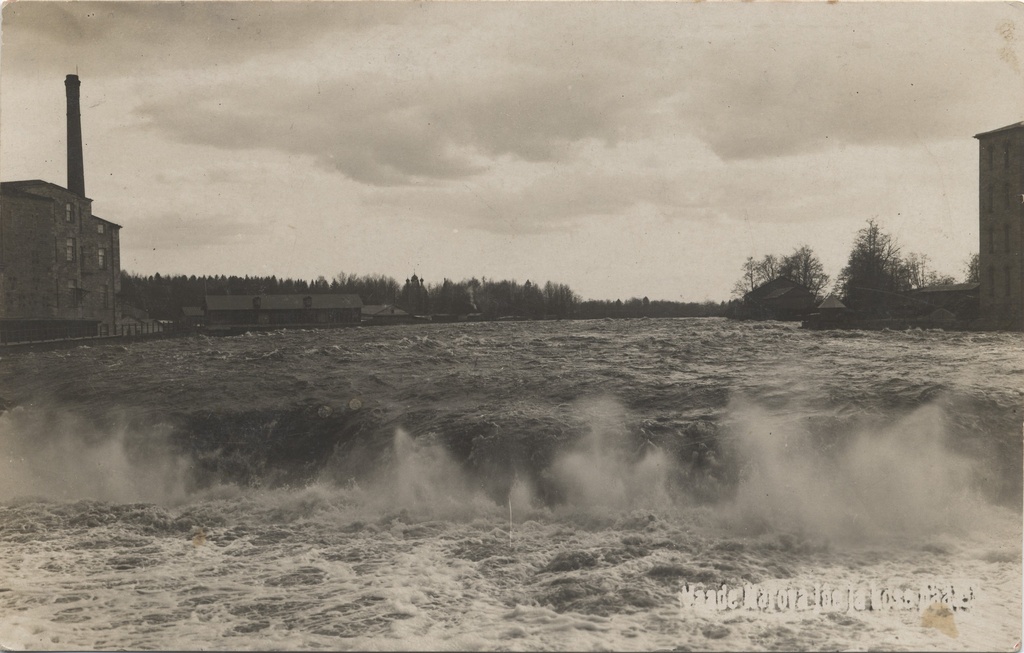
[[[276,276],[185,276],[121,272],[120,299],[126,312],[145,311],[154,319],[177,319],[184,306],[202,306],[206,295],[358,295],[364,305],[393,304],[415,315],[477,313],[486,319],[569,319],[599,317],[710,317],[724,315],[726,302],[670,302],[644,298],[587,300],[564,284],[470,278],[427,284],[416,275],[403,284],[380,274],[340,273],[331,280]]]

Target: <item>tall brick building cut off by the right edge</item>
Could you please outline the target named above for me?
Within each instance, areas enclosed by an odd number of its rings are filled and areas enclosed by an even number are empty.
[[[980,155],[981,314],[995,328],[1024,331],[1024,123],[975,138]]]

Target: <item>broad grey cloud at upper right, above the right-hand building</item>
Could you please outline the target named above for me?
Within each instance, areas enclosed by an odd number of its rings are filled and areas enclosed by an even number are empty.
[[[1008,5],[893,4],[801,7],[762,26],[774,43],[753,31],[709,43],[697,66],[713,74],[689,81],[677,116],[730,161],[965,138],[1020,120],[1024,84],[1005,50],[1024,44],[1004,37]]]

